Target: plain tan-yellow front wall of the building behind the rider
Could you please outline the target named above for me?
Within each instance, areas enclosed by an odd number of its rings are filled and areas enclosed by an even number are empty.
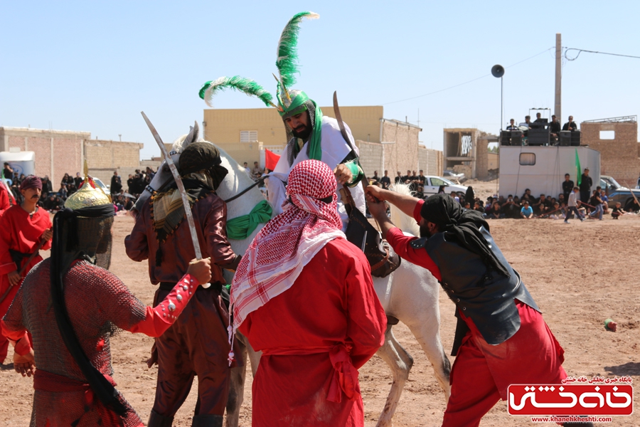
[[[333,107],[321,107],[322,114],[334,117]],[[340,107],[342,120],[351,129],[354,139],[380,142],[380,120],[383,107]],[[265,145],[284,145],[287,134],[275,108],[204,110],[204,138],[214,144],[240,143],[241,130],[254,130],[257,140]]]

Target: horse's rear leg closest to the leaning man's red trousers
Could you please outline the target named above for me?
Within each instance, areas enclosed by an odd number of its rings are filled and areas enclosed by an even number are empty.
[[[430,322],[420,322],[418,319],[412,325],[407,325],[417,342],[420,343],[422,350],[427,354],[427,359],[431,362],[438,384],[444,391],[444,401],[447,403],[451,394],[451,386],[449,385],[451,362],[449,362],[449,358],[444,352],[444,347],[442,347],[439,326],[439,317],[437,322],[434,322],[432,318]]]

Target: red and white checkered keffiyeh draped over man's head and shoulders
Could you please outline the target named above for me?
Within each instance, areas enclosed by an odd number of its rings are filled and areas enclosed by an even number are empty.
[[[334,173],[318,160],[305,160],[292,169],[282,214],[255,236],[235,272],[232,334],[250,312],[291,288],[327,242],[345,238],[336,186]]]

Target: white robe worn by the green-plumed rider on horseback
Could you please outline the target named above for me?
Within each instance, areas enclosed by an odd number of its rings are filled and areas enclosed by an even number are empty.
[[[360,156],[358,147],[356,147],[355,142],[353,141],[353,135],[351,135],[351,130],[349,127],[344,125],[347,135],[349,139],[351,139],[351,144],[356,149],[356,154],[358,157]],[[340,132],[340,127],[338,127],[338,121],[333,117],[322,117],[322,125],[321,125],[321,149],[322,149],[322,158],[321,161],[326,163],[331,170],[336,169],[336,166],[342,162],[345,157],[351,152],[351,147],[346,143],[342,134]],[[300,150],[297,157],[294,159],[293,164],[289,167],[289,160],[287,159],[287,152],[280,156],[278,164],[276,165],[274,171],[270,173],[270,179],[267,184],[267,190],[269,191],[269,202],[271,206],[273,206],[273,214],[274,216],[277,214],[282,214],[282,203],[284,203],[284,199],[286,199],[286,190],[284,188],[284,183],[289,180],[289,172],[291,169],[302,162],[303,160],[309,160],[309,156],[306,154],[306,144],[305,147]],[[346,214],[346,210],[344,209],[344,204],[342,203],[342,199],[340,196],[340,189],[342,188],[341,184],[338,184],[338,188],[336,192],[338,194],[338,214],[342,220],[342,231],[346,231],[346,226],[348,223],[348,215]],[[350,188],[351,196],[353,196],[353,201],[356,202],[356,207],[363,214],[366,214],[365,211],[365,199],[364,199],[364,190],[361,184]]]

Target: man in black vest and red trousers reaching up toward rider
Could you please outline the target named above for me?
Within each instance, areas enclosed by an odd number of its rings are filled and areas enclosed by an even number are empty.
[[[564,350],[477,211],[462,209],[446,194],[425,201],[377,186],[367,187],[367,199],[396,253],[427,268],[457,308],[456,361],[442,426],[479,426],[485,413],[506,400],[510,384],[561,384],[567,378]],[[413,216],[421,238],[396,228],[384,201]]]

